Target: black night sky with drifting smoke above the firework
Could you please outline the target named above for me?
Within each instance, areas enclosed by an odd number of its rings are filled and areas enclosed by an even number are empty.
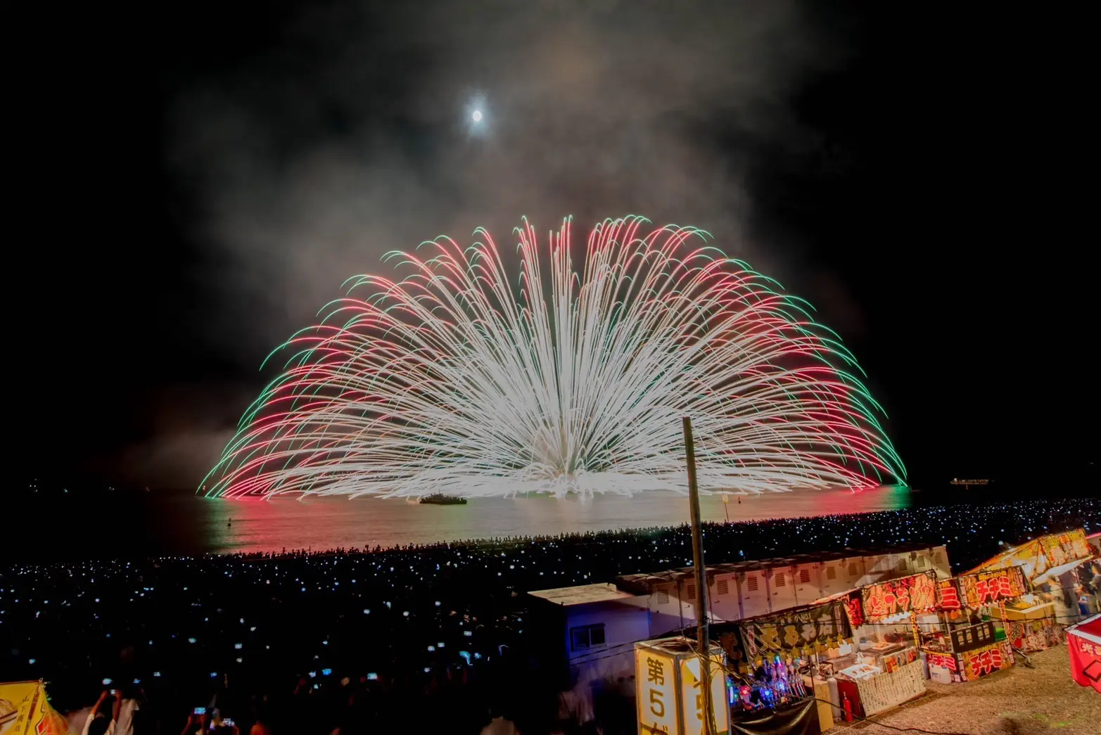
[[[17,474],[194,487],[266,352],[383,252],[642,213],[809,299],[914,484],[1095,479],[1082,21],[571,4],[17,12]]]

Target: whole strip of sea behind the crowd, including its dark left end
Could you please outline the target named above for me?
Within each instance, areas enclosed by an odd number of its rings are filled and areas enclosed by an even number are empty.
[[[863,513],[909,507],[911,492],[886,486],[861,493],[802,491],[705,496],[705,520]],[[402,500],[315,497],[226,501],[189,493],[72,495],[33,498],[18,514],[4,544],[13,558],[144,556],[283,548],[389,547],[440,540],[557,535],[688,522],[685,496],[556,500],[483,498],[467,505],[418,505]],[[7,555],[6,555],[7,556]]]

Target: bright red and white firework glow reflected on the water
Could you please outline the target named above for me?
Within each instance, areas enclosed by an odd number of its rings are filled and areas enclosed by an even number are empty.
[[[480,498],[467,505],[419,505],[403,500],[314,497],[297,501],[179,498],[199,505],[196,514],[210,551],[280,551],[297,548],[374,547],[498,536],[534,536],[669,526],[688,522],[688,500],[648,493],[635,497],[555,500],[547,496]],[[905,508],[905,487],[862,493],[797,491],[700,498],[705,520],[730,520],[864,513]],[[181,508],[183,509],[183,508]],[[194,512],[194,511],[193,511]],[[184,514],[190,515],[190,514]]]

